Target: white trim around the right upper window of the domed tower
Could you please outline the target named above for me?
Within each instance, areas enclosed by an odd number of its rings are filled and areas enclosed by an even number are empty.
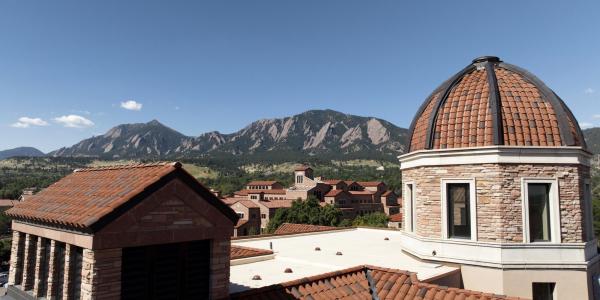
[[[550,184],[550,241],[532,242],[529,240],[529,197],[527,185],[530,183]],[[521,211],[523,220],[523,243],[527,244],[559,244],[562,237],[560,232],[560,203],[557,178],[521,178]]]

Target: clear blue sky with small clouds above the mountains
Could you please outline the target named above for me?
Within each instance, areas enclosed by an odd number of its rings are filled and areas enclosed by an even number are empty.
[[[0,149],[51,151],[152,119],[229,133],[325,108],[408,127],[481,55],[530,70],[600,126],[598,12],[600,1],[5,0]]]

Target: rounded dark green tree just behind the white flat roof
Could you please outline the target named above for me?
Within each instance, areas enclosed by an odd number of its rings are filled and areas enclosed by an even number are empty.
[[[342,211],[327,204],[321,206],[317,198],[296,200],[292,207],[277,210],[267,225],[267,232],[274,232],[283,223],[337,226],[342,219]]]

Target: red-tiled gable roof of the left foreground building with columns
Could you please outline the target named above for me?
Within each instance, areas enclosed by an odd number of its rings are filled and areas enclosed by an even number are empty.
[[[94,232],[175,178],[215,206],[232,223],[237,222],[237,214],[178,162],[75,170],[18,203],[6,214],[17,220]]]

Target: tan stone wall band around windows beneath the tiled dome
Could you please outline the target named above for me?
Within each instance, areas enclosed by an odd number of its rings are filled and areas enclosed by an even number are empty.
[[[404,183],[414,183],[416,233],[441,237],[441,180],[475,179],[479,241],[523,241],[521,179],[556,178],[559,185],[563,243],[583,242],[583,182],[589,167],[581,165],[479,164],[418,167],[402,171]],[[405,197],[405,199],[408,199]],[[405,217],[405,216],[404,216]]]

